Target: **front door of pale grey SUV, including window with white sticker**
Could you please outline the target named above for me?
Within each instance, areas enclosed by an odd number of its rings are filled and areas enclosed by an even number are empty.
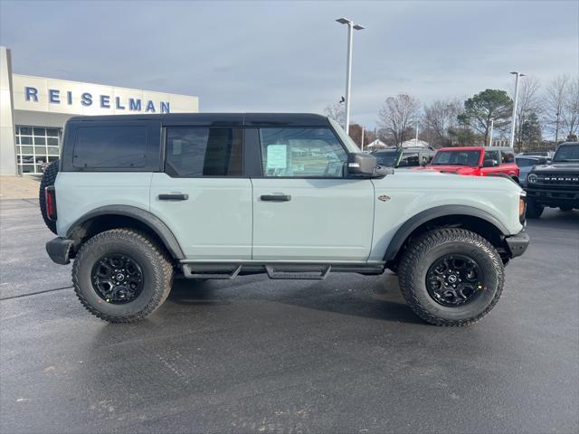
[[[374,184],[342,173],[346,150],[326,127],[260,128],[253,184],[253,253],[264,261],[368,258]]]

